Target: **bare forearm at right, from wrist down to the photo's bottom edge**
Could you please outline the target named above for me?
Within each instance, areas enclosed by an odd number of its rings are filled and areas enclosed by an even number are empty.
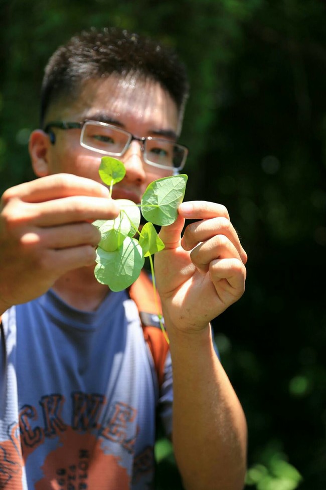
[[[210,329],[187,335],[170,329],[169,335],[173,443],[185,487],[240,490],[246,471],[246,421],[214,352]]]

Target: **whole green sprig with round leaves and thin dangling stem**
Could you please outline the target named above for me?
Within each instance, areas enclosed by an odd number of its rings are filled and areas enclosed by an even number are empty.
[[[123,179],[125,167],[120,160],[103,157],[99,167],[102,181],[109,186],[110,196],[113,185]],[[112,291],[129,287],[138,277],[149,257],[155,302],[158,310],[154,266],[151,255],[164,249],[164,243],[157,235],[153,225],[167,226],[178,217],[178,208],[186,191],[186,174],[163,177],[151,182],[136,205],[127,199],[116,200],[120,213],[114,220],[93,222],[101,239],[96,249],[95,277],[107,284]],[[139,230],[140,213],[147,223]],[[138,234],[139,240],[134,238]],[[161,315],[158,315],[161,329],[169,342]]]

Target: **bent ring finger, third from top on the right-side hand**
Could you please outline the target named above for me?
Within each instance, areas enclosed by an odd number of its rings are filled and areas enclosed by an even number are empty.
[[[225,235],[217,235],[195,247],[190,258],[198,270],[205,273],[213,260],[236,258],[241,260],[238,250]]]

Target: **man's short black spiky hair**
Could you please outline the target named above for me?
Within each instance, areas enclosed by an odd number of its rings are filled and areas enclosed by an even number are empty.
[[[173,49],[125,29],[91,28],[73,36],[49,59],[41,90],[41,127],[51,103],[76,95],[83,81],[129,73],[158,81],[182,114],[189,81]]]

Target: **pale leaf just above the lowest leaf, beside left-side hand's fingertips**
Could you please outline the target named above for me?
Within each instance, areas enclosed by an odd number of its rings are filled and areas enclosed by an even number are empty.
[[[106,252],[113,252],[123,242],[126,236],[129,235],[131,224],[125,213],[121,213],[114,220],[97,220],[94,221],[100,234],[101,240],[98,246],[103,248]]]

